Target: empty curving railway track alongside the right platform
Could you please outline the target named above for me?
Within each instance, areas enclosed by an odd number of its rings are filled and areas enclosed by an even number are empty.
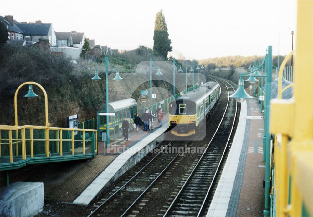
[[[228,96],[232,94],[230,93],[234,91],[232,86],[226,81],[221,80],[221,82],[227,87]],[[229,88],[232,91],[229,91]],[[228,98],[228,106],[218,129],[163,216],[198,217],[207,211],[206,201],[220,170],[233,131],[236,113],[237,102]]]

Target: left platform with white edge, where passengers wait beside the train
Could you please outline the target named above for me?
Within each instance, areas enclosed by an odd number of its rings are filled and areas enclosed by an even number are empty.
[[[110,141],[105,148],[104,156],[118,155],[114,160],[85,188],[74,200],[74,204],[87,205],[107,185],[114,182],[123,173],[136,165],[147,153],[153,150],[157,141],[162,141],[168,129],[168,115],[165,113],[163,125],[155,120],[154,128],[150,131],[139,129],[129,131],[128,141],[121,137],[117,141]],[[98,153],[104,153],[104,143],[98,143]]]

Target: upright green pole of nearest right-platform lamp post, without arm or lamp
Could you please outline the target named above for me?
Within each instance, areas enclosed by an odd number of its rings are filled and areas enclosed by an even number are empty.
[[[265,84],[265,209],[263,211],[264,216],[270,216],[270,173],[271,173],[271,159],[270,159],[270,140],[271,134],[269,132],[269,120],[270,120],[270,100],[271,100],[271,82],[272,82],[272,46],[268,46],[267,63],[266,63],[266,84]]]

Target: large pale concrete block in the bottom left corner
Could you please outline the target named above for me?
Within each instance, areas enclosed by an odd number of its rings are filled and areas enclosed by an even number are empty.
[[[0,192],[0,216],[32,216],[44,207],[42,182],[14,182]]]

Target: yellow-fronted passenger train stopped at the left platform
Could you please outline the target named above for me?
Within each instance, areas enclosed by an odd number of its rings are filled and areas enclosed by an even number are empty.
[[[206,82],[197,89],[172,100],[168,104],[169,128],[175,136],[186,137],[196,133],[221,95],[220,84]]]

